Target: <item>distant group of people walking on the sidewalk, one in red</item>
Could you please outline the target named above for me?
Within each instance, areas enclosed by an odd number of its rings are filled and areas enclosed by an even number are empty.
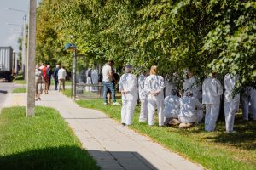
[[[63,90],[65,90],[66,76],[67,76],[67,72],[63,66],[61,66],[60,68],[60,65],[56,65],[54,71],[52,72],[50,70],[50,65],[45,65],[42,63],[41,66],[39,66],[37,64],[35,69],[36,101],[41,100],[41,94],[43,94],[43,89],[44,89],[44,94],[48,94],[51,77],[55,79],[55,90],[58,90],[57,89],[58,84],[59,84],[59,91],[61,90],[61,84],[63,86]]]

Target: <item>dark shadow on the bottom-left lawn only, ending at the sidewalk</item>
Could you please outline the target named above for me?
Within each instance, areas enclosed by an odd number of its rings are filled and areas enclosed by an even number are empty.
[[[27,150],[0,156],[1,170],[100,169],[85,150],[76,146]]]

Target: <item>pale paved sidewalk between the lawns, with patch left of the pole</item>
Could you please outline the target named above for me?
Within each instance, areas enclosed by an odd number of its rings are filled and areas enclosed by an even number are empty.
[[[9,95],[4,106],[13,105],[26,105],[26,94]],[[36,105],[60,111],[83,147],[102,169],[203,169],[151,139],[123,127],[101,111],[79,107],[59,92],[49,91],[48,95],[42,95],[42,100],[37,101]]]

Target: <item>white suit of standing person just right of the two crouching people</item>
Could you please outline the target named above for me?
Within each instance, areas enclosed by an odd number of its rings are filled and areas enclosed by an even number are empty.
[[[206,104],[205,130],[214,131],[219,114],[221,83],[213,77],[205,79],[202,85],[202,103]]]

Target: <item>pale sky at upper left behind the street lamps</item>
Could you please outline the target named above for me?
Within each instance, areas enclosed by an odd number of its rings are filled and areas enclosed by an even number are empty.
[[[17,41],[18,37],[21,36],[24,13],[6,8],[24,10],[28,14],[29,0],[0,0],[0,46],[11,46],[15,51],[18,51]],[[7,23],[20,26],[9,26]]]

